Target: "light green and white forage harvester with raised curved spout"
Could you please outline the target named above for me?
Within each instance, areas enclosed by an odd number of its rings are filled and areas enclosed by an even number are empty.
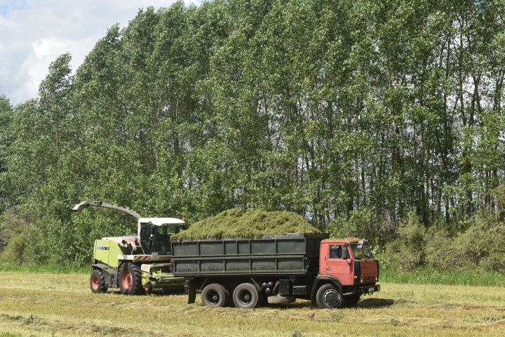
[[[78,212],[88,206],[116,209],[137,221],[137,235],[95,240],[90,276],[93,293],[104,293],[109,288],[119,288],[126,295],[184,291],[184,278],[173,276],[170,252],[170,237],[185,227],[184,220],[142,218],[131,209],[100,201],[83,201],[73,210]]]

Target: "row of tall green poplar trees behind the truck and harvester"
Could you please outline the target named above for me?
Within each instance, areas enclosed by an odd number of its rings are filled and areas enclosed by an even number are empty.
[[[504,19],[503,0],[139,11],[75,74],[69,54],[55,60],[38,98],[0,98],[3,244],[87,263],[93,239],[133,226],[73,214],[86,199],[190,223],[289,210],[379,242],[412,211],[451,233],[478,212],[499,218]]]

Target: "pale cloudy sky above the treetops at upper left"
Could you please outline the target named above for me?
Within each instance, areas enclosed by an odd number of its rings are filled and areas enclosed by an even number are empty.
[[[75,72],[107,29],[140,8],[175,0],[0,0],[0,95],[12,105],[36,98],[50,62],[72,55]],[[201,0],[184,0],[189,5]]]

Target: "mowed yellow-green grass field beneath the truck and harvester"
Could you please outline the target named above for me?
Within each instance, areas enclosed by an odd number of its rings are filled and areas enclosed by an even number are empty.
[[[501,287],[382,283],[356,309],[255,310],[93,294],[88,275],[0,272],[0,336],[504,336]]]

